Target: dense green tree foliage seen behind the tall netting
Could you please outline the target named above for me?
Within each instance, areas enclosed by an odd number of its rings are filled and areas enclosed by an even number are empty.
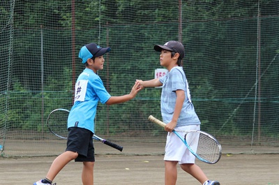
[[[227,133],[229,129],[241,133],[241,130],[246,131],[246,128],[252,125],[247,126],[243,122],[253,119],[259,36],[262,36],[262,122],[265,128],[269,129],[274,128],[274,123],[279,120],[279,112],[274,114],[276,112],[273,111],[269,114],[278,103],[278,84],[271,84],[271,81],[279,80],[278,59],[275,58],[279,37],[278,33],[274,32],[274,27],[279,25],[278,7],[267,0],[260,1],[259,7],[258,2],[206,0],[182,3],[182,42],[186,47],[183,68],[190,83],[196,111],[204,128],[210,131],[225,128]],[[47,103],[56,104],[54,107],[63,106],[67,101],[67,108],[70,108],[73,102],[72,84],[75,80],[71,74],[72,6],[68,0],[16,1],[13,60],[17,62],[13,65],[11,91],[26,93],[24,96],[28,96],[28,99],[42,96],[41,87],[33,84],[40,84],[41,80],[42,59],[38,53],[41,52],[40,43],[43,38],[43,62],[51,66],[43,74],[46,91],[43,96]],[[258,8],[261,10],[260,27],[264,33],[260,35]],[[0,25],[5,28],[5,19],[9,12],[1,5],[0,10]],[[178,20],[179,1],[75,1],[75,75],[84,68],[77,57],[82,45],[97,41],[102,46],[108,44],[112,47],[112,52],[106,58],[105,69],[98,74],[112,96],[127,94],[135,79],[149,80],[153,78],[154,68],[160,68],[159,54],[153,51],[153,45],[163,44],[167,40],[178,40]],[[3,33],[5,29],[1,31]],[[0,36],[4,39],[3,34]],[[0,54],[7,50],[8,48],[5,48]],[[268,70],[265,71],[266,69]],[[32,75],[25,75],[29,73]],[[53,91],[56,91],[55,95],[52,94]],[[10,97],[8,121],[12,124],[16,114],[20,120],[27,120],[22,121],[20,127],[33,128],[32,124],[36,123],[30,120],[40,121],[41,115],[26,114],[40,108],[32,106],[36,103],[30,105],[30,102],[24,99],[13,108],[13,101],[17,101],[15,95],[13,98]],[[126,103],[125,106],[116,105],[107,109],[100,105],[98,124],[106,124],[105,117],[110,112],[121,115],[117,118],[110,117],[111,130],[120,129],[113,123],[131,119],[131,114],[136,114],[135,119],[140,120],[148,117],[150,113],[160,117],[160,108],[154,104],[158,101],[160,90],[144,89],[133,103]],[[153,108],[154,112],[147,112],[144,109],[147,106]],[[231,119],[236,108],[239,114]],[[22,114],[19,110],[26,112]],[[50,110],[45,112],[47,114]],[[225,114],[220,119],[219,112]],[[1,115],[1,119],[3,117]],[[210,127],[207,123],[212,122],[216,124]],[[127,128],[130,129],[129,124]],[[141,129],[145,129],[144,126]],[[273,130],[278,131],[278,128]]]

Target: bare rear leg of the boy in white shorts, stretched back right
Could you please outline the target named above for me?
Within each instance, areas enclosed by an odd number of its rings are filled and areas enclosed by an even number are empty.
[[[186,163],[186,164],[181,164],[180,166],[181,166],[182,170],[184,170],[185,172],[188,172],[188,174],[195,177],[195,179],[197,179],[201,184],[203,184],[204,182],[206,182],[206,180],[208,180],[206,175],[204,174],[202,169],[199,168],[198,165]]]

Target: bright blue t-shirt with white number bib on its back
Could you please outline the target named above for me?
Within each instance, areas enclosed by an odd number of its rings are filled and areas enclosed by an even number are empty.
[[[85,68],[75,84],[75,103],[68,116],[68,128],[86,128],[94,133],[98,101],[106,103],[110,97],[100,77]]]

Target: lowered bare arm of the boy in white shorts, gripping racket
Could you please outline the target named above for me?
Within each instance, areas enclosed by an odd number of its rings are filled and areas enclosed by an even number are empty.
[[[177,120],[179,119],[179,115],[183,107],[184,99],[185,99],[185,92],[183,90],[176,90],[176,103],[174,107],[174,114],[172,115],[172,121],[170,121],[165,126],[165,131],[172,132],[176,127]]]

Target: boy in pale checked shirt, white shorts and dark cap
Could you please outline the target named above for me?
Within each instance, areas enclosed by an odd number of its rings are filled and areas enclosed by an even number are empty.
[[[155,45],[154,50],[160,52],[160,65],[167,68],[167,74],[159,79],[148,81],[137,80],[143,87],[163,86],[161,94],[161,114],[167,124],[167,142],[165,146],[165,185],[176,184],[179,163],[182,170],[195,177],[203,185],[220,185],[209,181],[199,166],[195,164],[195,156],[172,131],[199,130],[200,121],[190,98],[186,75],[181,67],[184,47],[177,41],[169,41],[165,45]]]

